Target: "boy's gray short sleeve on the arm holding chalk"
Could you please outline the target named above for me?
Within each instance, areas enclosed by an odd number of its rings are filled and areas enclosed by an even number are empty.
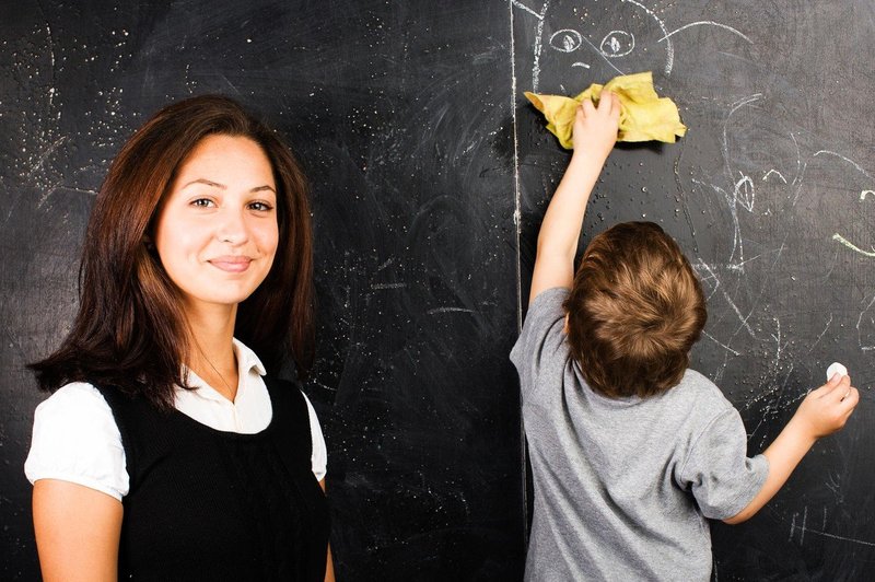
[[[769,475],[765,455],[747,456],[747,433],[740,415],[727,408],[695,441],[678,475],[699,509],[711,520],[737,515],[756,497]]]

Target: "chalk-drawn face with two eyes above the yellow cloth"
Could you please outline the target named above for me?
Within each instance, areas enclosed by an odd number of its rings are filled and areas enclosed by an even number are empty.
[[[668,31],[637,0],[609,5],[557,1],[534,7],[530,0],[514,4],[534,16],[535,92],[575,94],[591,83],[605,83],[619,74],[670,72]]]

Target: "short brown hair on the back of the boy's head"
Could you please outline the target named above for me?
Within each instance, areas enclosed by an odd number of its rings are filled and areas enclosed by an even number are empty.
[[[689,260],[653,222],[623,222],[593,238],[564,309],[571,353],[608,397],[675,386],[708,319]]]

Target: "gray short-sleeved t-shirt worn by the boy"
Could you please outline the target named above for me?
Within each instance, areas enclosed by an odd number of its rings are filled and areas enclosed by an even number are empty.
[[[737,410],[692,370],[650,398],[593,392],[570,357],[567,296],[540,293],[511,352],[535,487],[525,579],[709,580],[705,517],[747,507],[768,461],[747,457]]]

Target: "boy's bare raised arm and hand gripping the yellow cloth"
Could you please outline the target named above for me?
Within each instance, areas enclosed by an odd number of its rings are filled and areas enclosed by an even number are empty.
[[[572,135],[574,153],[550,200],[538,235],[529,303],[547,289],[571,287],[583,214],[605,160],[617,141],[619,120],[620,102],[610,92],[602,93],[598,107],[587,100],[578,108]]]

